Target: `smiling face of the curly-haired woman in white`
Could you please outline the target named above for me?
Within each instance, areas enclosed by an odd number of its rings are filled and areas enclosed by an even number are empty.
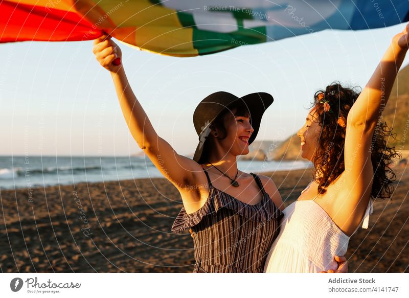
[[[313,161],[321,129],[322,127],[318,123],[318,115],[313,108],[308,113],[304,126],[297,132],[301,139],[301,156],[311,162]]]

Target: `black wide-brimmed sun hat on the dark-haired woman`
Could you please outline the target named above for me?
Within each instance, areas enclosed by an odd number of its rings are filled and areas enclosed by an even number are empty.
[[[254,129],[252,135],[248,139],[248,144],[252,144],[256,139],[260,128],[261,118],[265,110],[272,104],[274,99],[268,93],[257,92],[237,97],[231,93],[218,91],[203,99],[196,107],[193,113],[193,124],[197,135],[199,136],[199,144],[197,145],[193,160],[198,163],[203,153],[203,148],[206,139],[211,131],[210,126],[216,120],[217,116],[225,109],[233,108],[235,104],[242,101],[247,107],[251,124]]]

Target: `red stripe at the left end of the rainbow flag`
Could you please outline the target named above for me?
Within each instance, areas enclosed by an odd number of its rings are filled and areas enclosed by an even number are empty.
[[[0,42],[90,40],[102,35],[78,13],[0,1]]]

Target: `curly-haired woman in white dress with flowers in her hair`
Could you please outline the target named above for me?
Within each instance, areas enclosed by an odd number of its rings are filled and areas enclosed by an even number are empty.
[[[332,83],[314,95],[298,131],[302,156],[314,165],[313,180],[284,210],[281,231],[264,272],[331,272],[350,237],[368,227],[372,202],[393,193],[390,168],[398,154],[381,120],[397,71],[409,48],[409,24],[394,36],[374,74],[358,93]]]

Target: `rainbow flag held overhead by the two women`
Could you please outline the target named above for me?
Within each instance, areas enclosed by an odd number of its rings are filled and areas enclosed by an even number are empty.
[[[0,42],[90,40],[197,56],[325,29],[409,21],[408,0],[0,0]]]

